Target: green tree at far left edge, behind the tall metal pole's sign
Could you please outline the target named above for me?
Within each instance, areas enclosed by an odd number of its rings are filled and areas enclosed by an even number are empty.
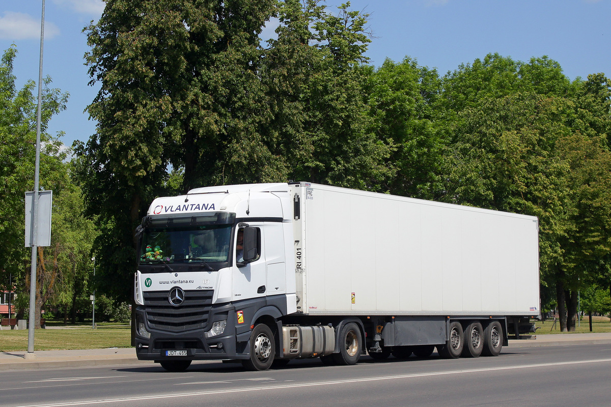
[[[24,247],[24,195],[34,186],[37,97],[34,81],[17,90],[13,74],[16,55],[12,46],[0,62],[0,273],[2,283],[9,283],[11,273],[13,284],[25,289],[30,256]],[[46,132],[47,125],[54,114],[65,109],[68,99],[67,93],[49,88],[50,84],[51,79],[45,77],[40,123],[40,187],[45,189],[51,189],[53,175],[63,165],[57,155],[60,142]]]

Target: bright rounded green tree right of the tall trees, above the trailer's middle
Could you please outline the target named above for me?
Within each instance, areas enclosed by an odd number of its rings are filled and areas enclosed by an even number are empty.
[[[434,109],[441,81],[436,70],[406,57],[387,59],[368,78],[370,115],[378,140],[392,148],[388,162],[396,171],[386,184],[390,193],[436,198],[440,190],[443,140]]]

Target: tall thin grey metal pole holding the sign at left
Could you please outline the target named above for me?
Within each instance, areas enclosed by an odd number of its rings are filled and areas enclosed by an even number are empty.
[[[40,62],[38,65],[38,109],[36,113],[36,163],[34,169],[34,225],[32,225],[32,268],[30,272],[30,315],[27,327],[27,355],[34,355],[34,324],[36,321],[36,252],[38,245],[38,175],[40,171],[40,113],[42,110],[42,51],[45,38],[45,0],[42,0],[40,19]]]

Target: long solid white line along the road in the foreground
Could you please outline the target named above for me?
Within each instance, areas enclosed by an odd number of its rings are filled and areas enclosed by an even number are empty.
[[[34,404],[34,405],[22,405],[22,406],[16,406],[16,407],[67,407],[67,406],[106,404],[106,403],[126,403],[126,402],[137,402],[137,401],[143,401],[143,400],[161,400],[163,398],[194,397],[194,396],[214,395],[214,394],[226,395],[228,393],[270,391],[270,390],[281,390],[281,389],[289,389],[289,388],[297,388],[297,387],[331,386],[332,384],[363,383],[363,382],[368,382],[368,381],[397,380],[397,379],[417,378],[417,377],[425,377],[425,376],[455,375],[457,373],[464,375],[466,373],[491,372],[494,370],[533,369],[536,367],[565,366],[565,365],[602,363],[602,362],[611,362],[611,359],[595,359],[595,360],[590,360],[590,361],[541,363],[541,364],[505,366],[505,367],[486,367],[483,369],[449,370],[447,372],[414,373],[411,375],[379,376],[379,377],[368,377],[368,378],[360,378],[360,379],[320,381],[320,382],[302,383],[302,384],[274,384],[272,386],[265,386],[265,387],[244,387],[242,389],[221,389],[221,390],[199,391],[199,392],[188,392],[188,393],[159,394],[159,395],[140,396],[140,397],[106,398],[103,400],[82,400],[79,402]]]

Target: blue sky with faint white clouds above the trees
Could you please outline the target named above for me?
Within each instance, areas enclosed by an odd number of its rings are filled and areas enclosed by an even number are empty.
[[[327,0],[329,11],[342,1]],[[43,75],[70,93],[67,110],[49,131],[64,131],[62,142],[86,141],[95,132],[84,109],[97,93],[87,85],[83,55],[89,50],[82,28],[103,11],[100,0],[46,0]],[[611,1],[607,0],[353,0],[351,9],[370,13],[373,41],[367,56],[405,56],[445,74],[461,63],[499,52],[514,60],[549,56],[566,76],[611,76]],[[38,79],[42,0],[0,0],[0,50],[15,43],[18,85]]]

